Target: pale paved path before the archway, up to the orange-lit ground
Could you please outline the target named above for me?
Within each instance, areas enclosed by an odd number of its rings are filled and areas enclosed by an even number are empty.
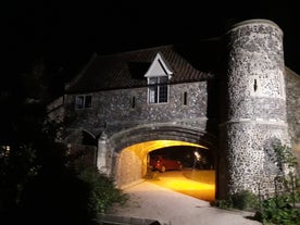
[[[157,220],[164,225],[261,225],[247,218],[253,213],[226,211],[208,201],[179,193],[150,182],[124,189],[129,195],[125,205],[114,205],[108,214]]]

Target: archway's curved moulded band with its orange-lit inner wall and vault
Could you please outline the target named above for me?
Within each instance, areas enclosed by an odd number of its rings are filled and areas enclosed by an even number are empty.
[[[112,175],[118,187],[140,180],[147,173],[147,154],[171,146],[195,146],[216,152],[216,138],[204,130],[170,124],[139,126],[109,138]],[[215,164],[215,162],[214,162]]]

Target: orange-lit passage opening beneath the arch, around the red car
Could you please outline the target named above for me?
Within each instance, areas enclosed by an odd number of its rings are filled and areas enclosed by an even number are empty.
[[[150,157],[162,152],[180,161],[183,170],[165,173],[153,170],[149,164]],[[120,152],[115,161],[115,179],[121,188],[147,179],[168,189],[211,201],[215,197],[214,164],[213,152],[205,146],[182,140],[149,140],[128,146]]]

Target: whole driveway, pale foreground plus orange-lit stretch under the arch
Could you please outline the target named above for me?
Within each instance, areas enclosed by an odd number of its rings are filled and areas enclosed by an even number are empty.
[[[252,212],[227,211],[210,204],[215,198],[213,170],[167,171],[152,173],[150,177],[125,188],[128,201],[113,205],[104,215],[124,224],[146,224],[148,220],[161,225],[261,225],[251,220]]]

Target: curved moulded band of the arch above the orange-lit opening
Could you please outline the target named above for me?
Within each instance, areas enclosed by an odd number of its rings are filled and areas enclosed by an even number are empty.
[[[204,146],[216,150],[217,139],[214,135],[196,127],[172,124],[145,125],[123,130],[110,137],[111,148],[121,152],[124,148],[150,140],[179,140]]]

